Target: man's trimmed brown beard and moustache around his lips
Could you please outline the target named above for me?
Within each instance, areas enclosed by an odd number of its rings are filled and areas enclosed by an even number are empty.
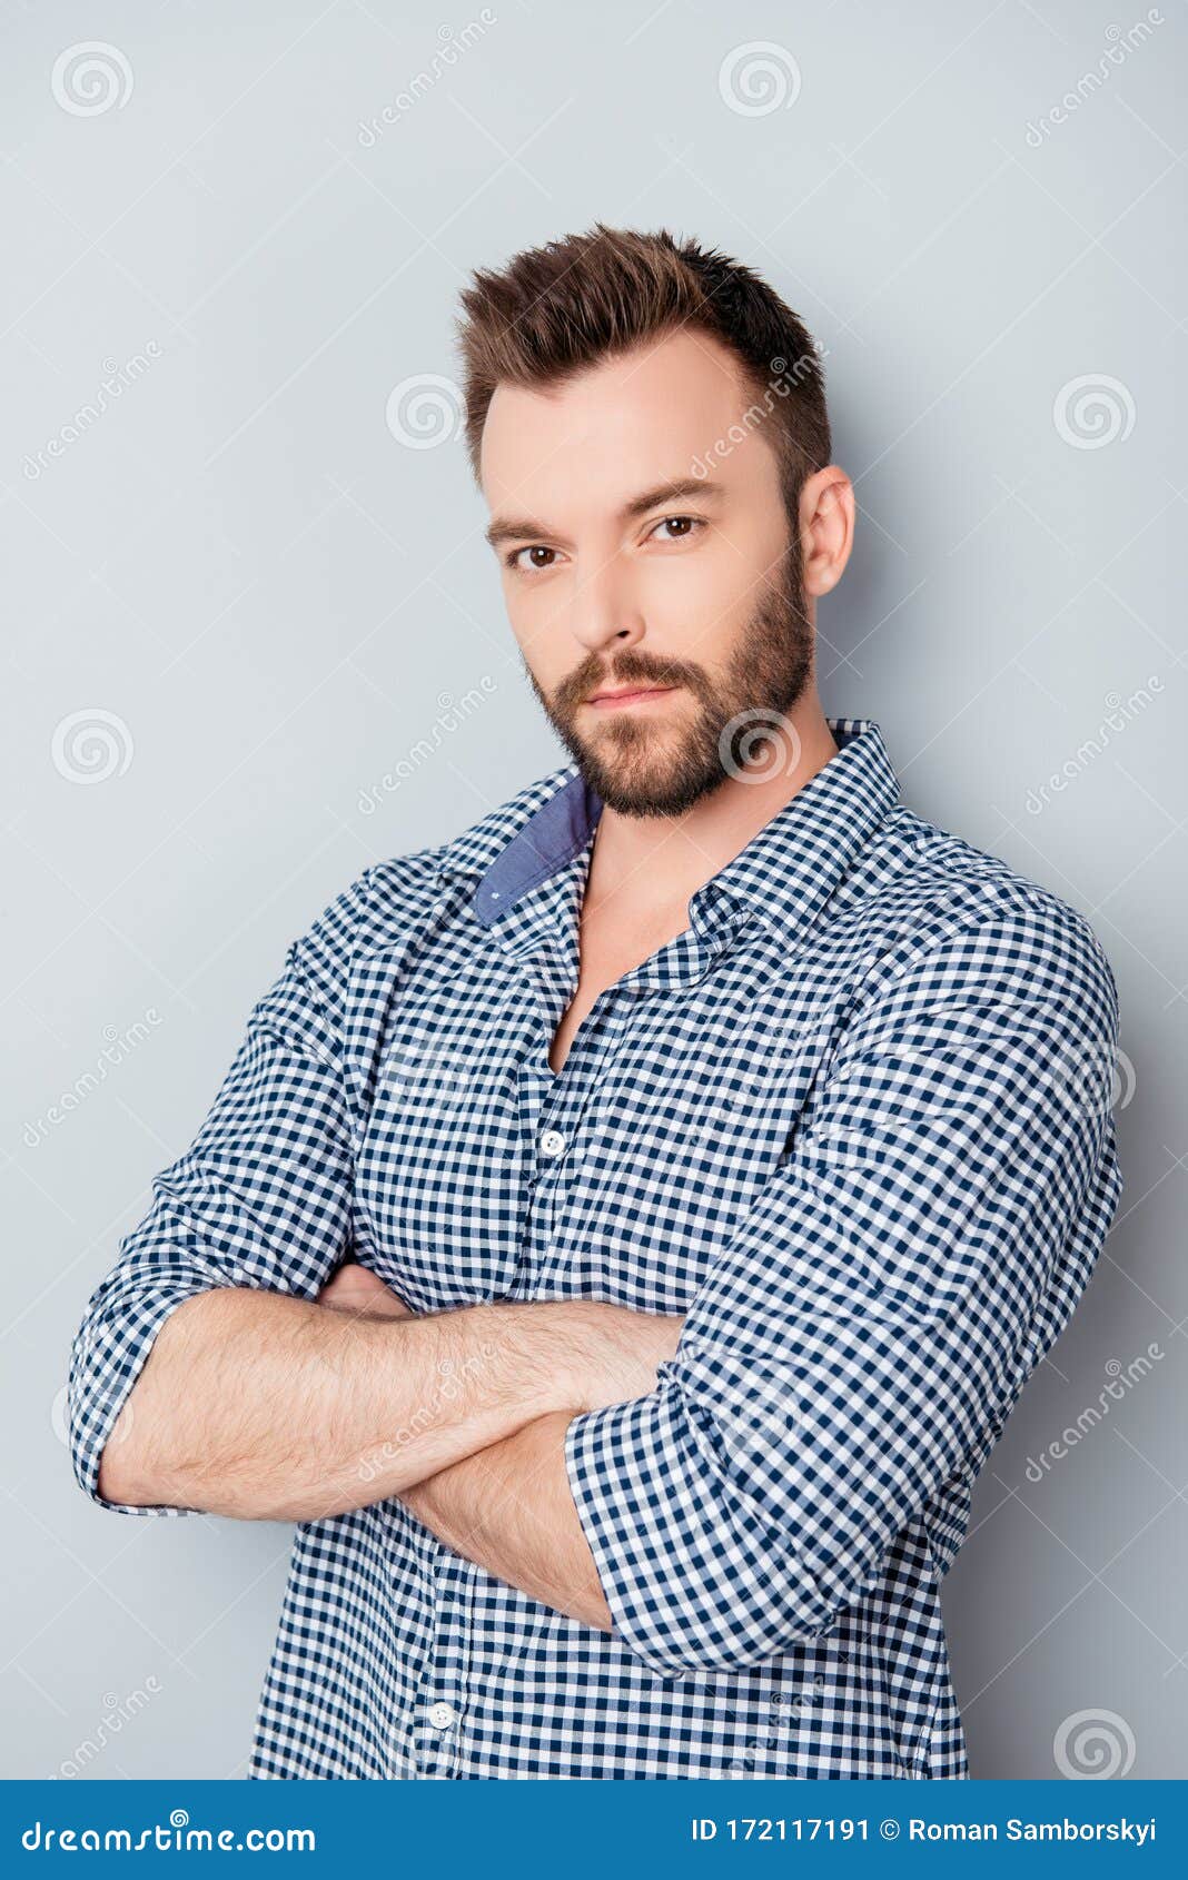
[[[784,579],[763,594],[722,673],[688,660],[590,654],[549,697],[524,671],[585,782],[620,816],[682,816],[726,776],[791,769],[799,752],[788,713],[812,679],[812,622],[801,587],[799,541]],[[523,654],[521,654],[523,658]],[[577,729],[583,701],[600,686],[684,686],[694,720],[656,722],[630,709],[607,716],[600,735]],[[682,711],[682,707],[677,707]],[[758,771],[756,771],[758,765]]]

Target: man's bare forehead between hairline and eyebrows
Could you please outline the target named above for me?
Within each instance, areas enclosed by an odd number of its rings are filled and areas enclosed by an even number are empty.
[[[716,440],[752,402],[735,355],[688,327],[603,359],[553,387],[496,385],[481,446],[481,483],[492,509],[515,502],[556,509],[558,498],[598,500],[697,472]],[[767,449],[756,434],[714,476],[746,476],[744,451]]]

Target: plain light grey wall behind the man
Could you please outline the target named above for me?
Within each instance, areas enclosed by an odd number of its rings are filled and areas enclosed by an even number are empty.
[[[1179,6],[1102,64],[1145,17],[498,0],[434,66],[421,4],[4,9],[8,1775],[242,1773],[289,1528],[92,1508],[68,1346],[288,942],[562,761],[455,395],[389,395],[453,380],[474,265],[596,218],[823,342],[861,502],[825,707],[1111,957],[1126,1194],[946,1613],[976,1777],[1188,1773]]]

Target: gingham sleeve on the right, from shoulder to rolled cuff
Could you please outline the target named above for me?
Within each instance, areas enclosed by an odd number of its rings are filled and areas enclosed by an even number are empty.
[[[652,1671],[825,1632],[976,1474],[1115,1213],[1117,989],[1047,897],[883,976],[649,1397],[566,1429],[615,1632]]]

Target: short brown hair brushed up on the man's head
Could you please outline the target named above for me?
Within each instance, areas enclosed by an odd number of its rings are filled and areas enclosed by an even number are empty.
[[[498,273],[476,269],[461,301],[476,481],[500,382],[556,385],[645,340],[694,327],[735,353],[744,385],[765,400],[795,532],[801,485],[831,461],[825,374],[803,321],[750,267],[692,241],[677,244],[667,229],[641,235],[596,222],[586,235],[524,248]]]

